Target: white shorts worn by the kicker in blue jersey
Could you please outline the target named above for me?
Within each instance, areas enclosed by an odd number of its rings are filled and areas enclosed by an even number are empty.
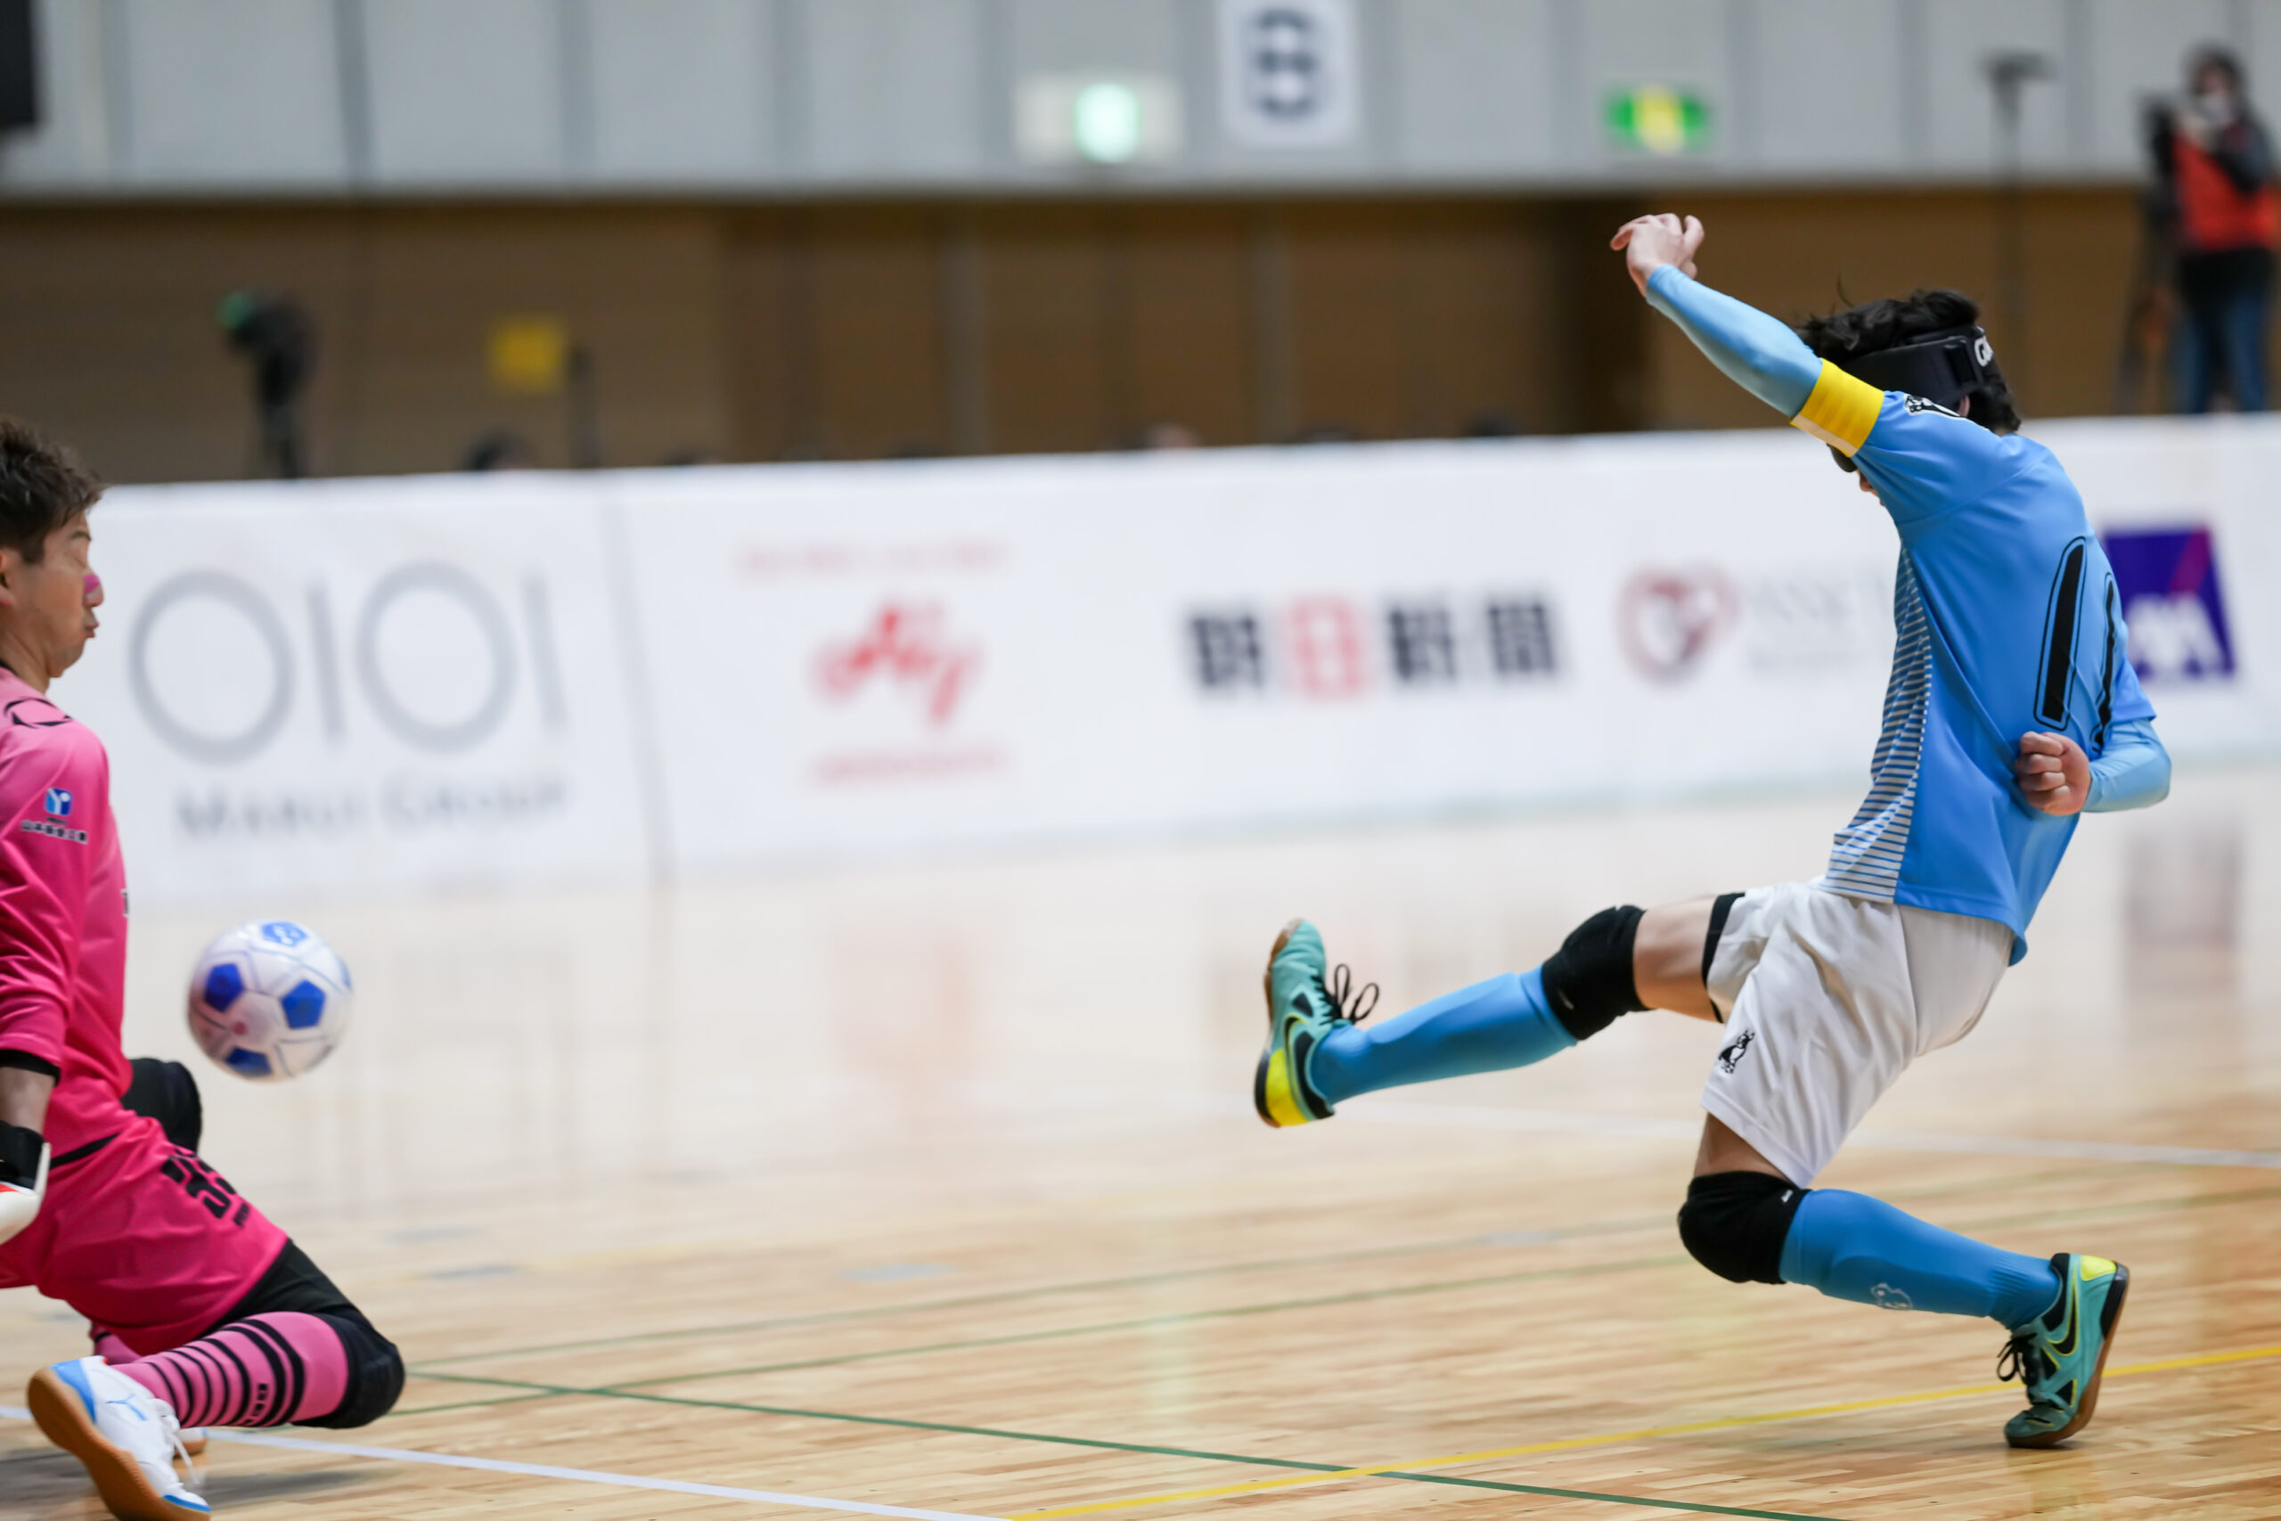
[[[1980,1024],[2010,962],[1994,919],[1756,887],[1704,976],[1727,1022],[1704,1108],[1804,1188],[1911,1060]]]

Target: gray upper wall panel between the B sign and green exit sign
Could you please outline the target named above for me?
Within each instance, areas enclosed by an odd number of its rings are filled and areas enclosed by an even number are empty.
[[[1556,164],[1549,0],[1394,0],[1396,157],[1419,173]]]

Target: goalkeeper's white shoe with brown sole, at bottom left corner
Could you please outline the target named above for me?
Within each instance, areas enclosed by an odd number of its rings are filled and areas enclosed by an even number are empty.
[[[176,1459],[187,1469],[189,1455],[173,1407],[100,1357],[41,1368],[27,1402],[48,1441],[87,1464],[87,1478],[119,1521],[210,1514],[176,1473]]]

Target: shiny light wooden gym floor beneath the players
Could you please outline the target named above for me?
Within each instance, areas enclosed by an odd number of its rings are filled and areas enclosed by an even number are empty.
[[[317,921],[317,1076],[203,1069],[208,1154],[413,1366],[228,1437],[224,1516],[2281,1514],[2281,803],[2092,819],[2035,953],[1823,1179],[2135,1272],[2099,1421],[2010,1453],[1987,1323],[1681,1254],[1711,1026],[1271,1133],[1259,962],[1314,914],[1387,1010],[1613,901],[1818,869],[1852,805],[1535,816],[689,885],[146,912]],[[0,1295],[9,1380],[84,1350]],[[0,1393],[0,1400],[9,1398]],[[0,1418],[0,1521],[100,1514]]]

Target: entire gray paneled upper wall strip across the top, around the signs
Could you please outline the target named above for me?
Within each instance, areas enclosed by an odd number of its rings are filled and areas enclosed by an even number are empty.
[[[1346,2],[1353,132],[1277,144],[1223,96],[1223,0],[39,0],[48,121],[0,192],[1971,182],[2003,48],[2055,68],[2028,171],[2114,182],[2197,41],[2281,103],[2281,0]],[[1015,155],[1022,82],[1086,71],[1177,91],[1163,162]],[[1699,151],[1613,141],[1642,84],[1708,103]]]

